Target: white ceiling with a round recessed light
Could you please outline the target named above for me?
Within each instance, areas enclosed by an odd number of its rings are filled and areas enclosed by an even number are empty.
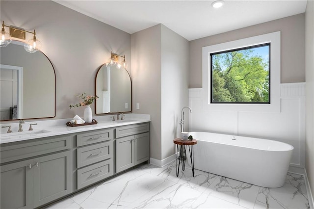
[[[163,24],[187,40],[305,12],[307,0],[54,0],[130,34]]]

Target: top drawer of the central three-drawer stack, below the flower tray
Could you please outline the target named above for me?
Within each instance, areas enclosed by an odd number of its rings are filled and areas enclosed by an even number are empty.
[[[113,130],[92,131],[77,135],[77,145],[84,146],[113,139]]]

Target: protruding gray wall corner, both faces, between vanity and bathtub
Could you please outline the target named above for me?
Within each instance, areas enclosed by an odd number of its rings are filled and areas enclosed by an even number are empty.
[[[175,153],[188,104],[188,41],[159,24],[132,34],[131,52],[133,112],[151,114],[151,157],[163,160]]]

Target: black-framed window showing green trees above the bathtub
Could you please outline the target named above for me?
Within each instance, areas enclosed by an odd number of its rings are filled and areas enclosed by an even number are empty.
[[[210,54],[211,103],[270,104],[270,43]]]

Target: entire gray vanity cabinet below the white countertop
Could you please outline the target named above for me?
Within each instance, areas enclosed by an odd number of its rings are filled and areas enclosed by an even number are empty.
[[[3,143],[0,159],[0,208],[40,208],[148,161],[149,123]]]

